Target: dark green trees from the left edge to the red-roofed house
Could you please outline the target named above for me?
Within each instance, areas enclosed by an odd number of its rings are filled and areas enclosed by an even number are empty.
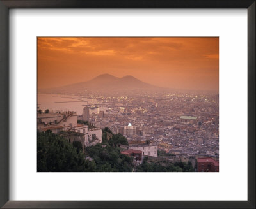
[[[86,155],[93,158],[93,161],[86,161],[81,142],[68,143],[52,131],[38,132],[37,169],[39,172],[132,171],[133,159],[121,154],[120,143],[128,144],[124,136],[116,134],[107,145],[86,147]]]

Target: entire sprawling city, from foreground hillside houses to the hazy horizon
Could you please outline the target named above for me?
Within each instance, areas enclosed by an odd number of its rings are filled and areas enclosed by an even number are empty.
[[[69,140],[76,136],[69,142],[81,141],[85,152],[86,147],[103,142],[102,130],[107,128],[107,140],[118,134],[126,138],[125,145],[118,145],[121,153],[130,150],[127,153],[130,156],[141,154],[135,164],[141,164],[144,156],[154,161],[164,158],[172,163],[191,162],[193,171],[198,169],[195,167],[198,158],[218,164],[218,94],[181,91],[168,94],[166,91],[151,90],[145,95],[130,92],[112,97],[88,95],[87,91],[72,96],[58,93],[55,98],[65,99],[59,103],[80,103],[82,114],[74,110],[50,111],[50,107],[45,112],[38,104],[38,130],[51,130]]]

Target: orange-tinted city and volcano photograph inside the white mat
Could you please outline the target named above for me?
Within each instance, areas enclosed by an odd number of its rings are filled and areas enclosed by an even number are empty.
[[[218,38],[38,38],[38,171],[218,172]]]

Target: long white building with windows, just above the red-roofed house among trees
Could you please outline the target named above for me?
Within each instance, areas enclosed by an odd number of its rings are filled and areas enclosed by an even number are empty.
[[[141,144],[141,145],[133,145],[129,144],[127,145],[120,145],[121,148],[124,148],[125,150],[140,150],[142,152],[142,155],[157,157],[157,143],[150,143],[148,144]]]

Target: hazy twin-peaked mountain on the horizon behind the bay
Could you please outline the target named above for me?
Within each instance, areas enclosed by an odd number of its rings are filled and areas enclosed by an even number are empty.
[[[39,89],[38,92],[54,94],[106,94],[106,92],[127,93],[131,91],[152,91],[160,89],[164,88],[156,87],[154,85],[150,85],[149,83],[142,82],[141,80],[138,80],[131,75],[117,78],[113,75],[102,74],[86,82],[79,82],[49,89]]]

